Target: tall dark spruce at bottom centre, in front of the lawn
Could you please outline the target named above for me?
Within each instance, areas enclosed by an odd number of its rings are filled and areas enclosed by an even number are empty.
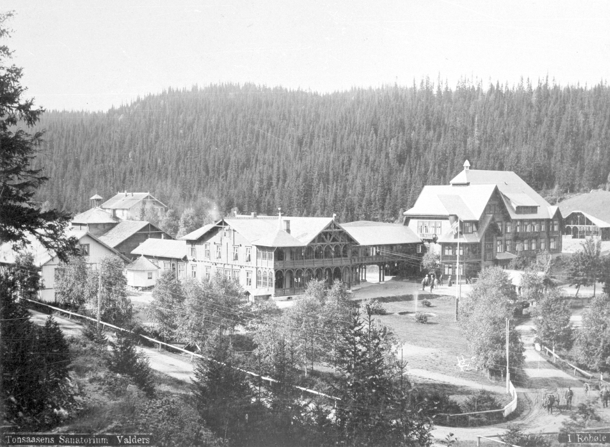
[[[429,445],[431,424],[410,405],[392,333],[364,310],[341,330],[336,429],[345,445]]]

